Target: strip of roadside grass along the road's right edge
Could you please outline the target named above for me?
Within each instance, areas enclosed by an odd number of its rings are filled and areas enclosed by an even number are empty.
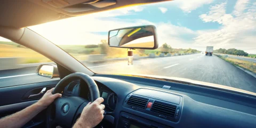
[[[228,57],[225,58],[225,57],[222,57],[221,55],[217,55],[217,56],[235,66],[242,67],[242,68],[249,70],[252,73],[256,74],[256,63],[255,62],[239,60],[239,59],[234,59],[234,58],[228,58]]]

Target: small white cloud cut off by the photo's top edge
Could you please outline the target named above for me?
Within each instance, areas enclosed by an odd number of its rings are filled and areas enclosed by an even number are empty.
[[[172,1],[170,3],[174,5],[178,5],[181,10],[185,13],[190,13],[193,10],[196,10],[198,7],[201,7],[205,4],[212,3],[213,0],[194,0],[194,1],[187,1],[187,0],[179,0],[179,1]]]

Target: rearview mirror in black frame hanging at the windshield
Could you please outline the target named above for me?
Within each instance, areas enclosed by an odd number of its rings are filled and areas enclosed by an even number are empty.
[[[110,30],[108,45],[128,49],[157,49],[156,27],[148,25]]]

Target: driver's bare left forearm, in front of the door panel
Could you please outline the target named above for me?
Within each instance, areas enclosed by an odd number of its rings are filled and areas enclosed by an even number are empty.
[[[22,127],[45,108],[35,103],[15,114],[0,119],[1,127]]]

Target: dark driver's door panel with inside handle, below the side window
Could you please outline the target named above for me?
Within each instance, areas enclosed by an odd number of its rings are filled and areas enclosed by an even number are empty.
[[[55,87],[60,81],[59,78],[55,80],[50,79],[47,82],[39,82],[17,86],[6,86],[0,88],[0,118],[7,115],[11,115],[20,111],[33,103],[37,102],[43,94]],[[37,97],[30,97],[29,95],[38,94],[43,88],[46,88],[43,94],[37,95]],[[41,111],[31,121],[29,121],[23,127],[45,127],[45,110]]]

